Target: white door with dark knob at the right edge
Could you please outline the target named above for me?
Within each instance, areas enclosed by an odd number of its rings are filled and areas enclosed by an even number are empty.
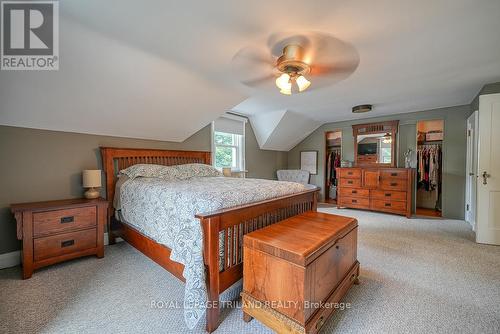
[[[500,94],[479,96],[476,241],[500,245]]]

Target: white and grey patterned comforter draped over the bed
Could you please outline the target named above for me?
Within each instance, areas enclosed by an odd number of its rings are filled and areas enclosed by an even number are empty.
[[[128,224],[172,249],[171,260],[184,265],[184,317],[187,326],[194,328],[207,301],[202,230],[195,214],[297,193],[307,187],[227,177],[136,178],[121,186],[121,214]]]

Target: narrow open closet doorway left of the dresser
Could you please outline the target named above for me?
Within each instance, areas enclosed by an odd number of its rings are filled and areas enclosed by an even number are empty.
[[[337,172],[342,159],[342,131],[325,132],[325,202],[337,203]]]

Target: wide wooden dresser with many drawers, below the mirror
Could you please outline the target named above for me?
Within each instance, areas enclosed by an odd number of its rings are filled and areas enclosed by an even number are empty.
[[[337,207],[383,211],[411,217],[411,168],[337,168]]]

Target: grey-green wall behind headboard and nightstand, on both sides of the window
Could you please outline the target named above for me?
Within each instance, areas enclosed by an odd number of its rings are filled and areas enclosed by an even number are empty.
[[[249,124],[246,138],[248,175],[274,178],[286,152],[260,150]],[[81,171],[101,168],[99,146],[210,151],[210,126],[182,143],[0,126],[0,254],[20,248],[9,205],[82,196]]]

